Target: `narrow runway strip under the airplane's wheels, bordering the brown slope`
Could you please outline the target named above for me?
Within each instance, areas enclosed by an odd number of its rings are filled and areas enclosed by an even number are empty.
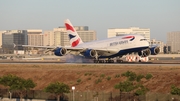
[[[163,60],[163,61],[150,61],[150,62],[123,62],[123,63],[87,63],[87,62],[60,62],[60,61],[15,61],[15,60],[0,60],[0,64],[58,64],[58,65],[132,65],[132,66],[179,66],[180,62],[177,60]]]

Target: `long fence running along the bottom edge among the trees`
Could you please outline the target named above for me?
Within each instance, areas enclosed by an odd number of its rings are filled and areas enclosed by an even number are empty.
[[[0,89],[0,98],[10,98],[7,89]],[[19,98],[19,96],[17,93],[12,92],[12,98]],[[56,96],[40,90],[31,90],[27,91],[24,99],[56,101]],[[60,101],[180,101],[180,96],[153,92],[148,92],[142,96],[135,96],[133,93],[75,91],[74,93],[64,94],[60,99]]]

